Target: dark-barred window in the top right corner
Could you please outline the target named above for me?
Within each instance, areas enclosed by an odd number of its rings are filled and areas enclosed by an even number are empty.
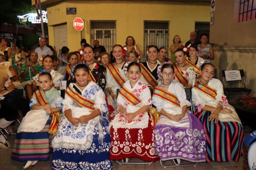
[[[240,0],[238,22],[256,19],[256,0]]]

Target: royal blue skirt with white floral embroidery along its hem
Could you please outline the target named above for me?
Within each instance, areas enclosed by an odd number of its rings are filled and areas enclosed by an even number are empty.
[[[66,128],[69,127],[66,126]],[[94,135],[92,145],[86,150],[79,150],[75,148],[53,148],[52,169],[112,170],[112,161],[109,159],[110,134],[108,132],[107,120],[104,120],[104,122],[102,122],[102,129],[104,132],[103,142],[99,143],[99,130],[98,127],[95,127],[93,131]],[[62,129],[62,132],[64,131],[66,130]],[[58,133],[56,134],[56,136],[57,135]]]

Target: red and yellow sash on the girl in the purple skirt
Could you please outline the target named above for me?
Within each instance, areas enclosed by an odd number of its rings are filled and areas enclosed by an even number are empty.
[[[177,107],[180,107],[180,101],[178,97],[169,91],[156,87],[153,91],[153,96],[158,97],[164,101],[170,102]]]

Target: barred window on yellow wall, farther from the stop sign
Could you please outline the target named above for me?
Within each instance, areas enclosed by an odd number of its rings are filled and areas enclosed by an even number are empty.
[[[169,22],[144,21],[144,54],[148,45],[166,47],[168,50]]]

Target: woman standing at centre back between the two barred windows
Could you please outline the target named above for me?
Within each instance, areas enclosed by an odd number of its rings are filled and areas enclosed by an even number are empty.
[[[141,52],[139,47],[136,45],[136,42],[135,42],[135,40],[134,40],[134,38],[132,36],[128,36],[126,38],[125,44],[126,44],[126,45],[124,45],[124,49],[126,50],[125,61],[128,61],[129,52],[131,50],[134,50],[134,51],[136,51],[138,53],[139,60],[142,59],[143,53]]]

